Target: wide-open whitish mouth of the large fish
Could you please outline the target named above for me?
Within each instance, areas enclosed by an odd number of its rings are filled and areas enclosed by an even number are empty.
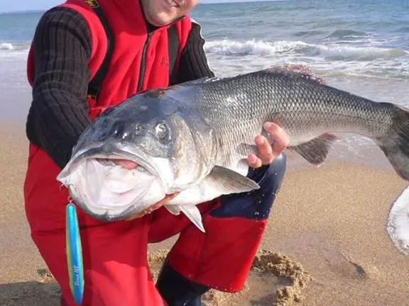
[[[129,160],[138,166],[125,169],[112,159]],[[57,180],[90,217],[104,222],[125,220],[165,196],[159,167],[150,159],[136,147],[104,144],[77,152]]]

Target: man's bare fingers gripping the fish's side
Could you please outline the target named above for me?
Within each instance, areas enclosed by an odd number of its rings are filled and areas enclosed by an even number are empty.
[[[274,159],[276,159],[276,157],[288,147],[288,143],[290,142],[284,130],[275,123],[264,123],[264,129],[269,135],[271,135],[271,137],[273,137],[274,143],[273,145],[270,145],[268,140],[266,140],[266,137],[262,135],[256,137],[254,142],[256,142],[257,145],[258,156],[255,154],[249,154],[249,157],[247,157],[249,166],[253,168],[259,168],[263,165],[271,164],[271,162],[273,162]]]

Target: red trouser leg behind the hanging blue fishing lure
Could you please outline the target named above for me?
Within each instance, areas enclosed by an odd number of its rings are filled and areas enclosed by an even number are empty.
[[[65,205],[68,193],[55,186],[60,169],[31,145],[25,183],[26,213],[33,241],[61,286],[65,305],[72,300],[65,256]],[[40,166],[45,174],[39,171]],[[46,184],[45,182],[48,182]],[[40,191],[40,192],[39,192]],[[163,305],[146,263],[150,217],[102,223],[78,211],[84,256],[83,305]],[[125,250],[126,249],[126,250]],[[145,281],[141,281],[145,280]]]

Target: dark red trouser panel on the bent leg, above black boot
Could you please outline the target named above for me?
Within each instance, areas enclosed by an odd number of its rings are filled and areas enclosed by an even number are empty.
[[[206,234],[187,227],[168,259],[186,278],[230,293],[243,289],[261,242],[266,220],[204,215]]]

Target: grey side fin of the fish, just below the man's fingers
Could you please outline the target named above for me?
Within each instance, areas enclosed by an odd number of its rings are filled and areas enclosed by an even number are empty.
[[[260,188],[255,181],[222,166],[214,166],[202,183],[222,194],[243,193]]]

